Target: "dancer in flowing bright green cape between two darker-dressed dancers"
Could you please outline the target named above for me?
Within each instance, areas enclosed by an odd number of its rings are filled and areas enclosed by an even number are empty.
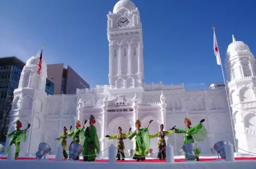
[[[151,124],[153,120],[149,121],[149,125]],[[135,152],[134,156],[132,159],[135,159],[137,161],[142,161],[145,160],[146,154],[149,151],[149,146],[150,146],[150,139],[149,139],[149,131],[148,131],[148,126],[145,128],[140,129],[142,126],[141,122],[137,120],[135,122],[136,130],[130,135],[129,139],[131,140],[132,138],[135,137],[136,135],[136,147],[135,147]]]

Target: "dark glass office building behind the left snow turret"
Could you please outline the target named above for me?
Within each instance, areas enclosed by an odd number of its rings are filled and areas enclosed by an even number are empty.
[[[15,56],[0,57],[0,141],[8,131],[9,112],[25,63]],[[54,94],[54,82],[46,79],[46,93]]]

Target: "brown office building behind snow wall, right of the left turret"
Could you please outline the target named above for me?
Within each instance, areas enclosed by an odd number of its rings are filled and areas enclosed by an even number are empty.
[[[77,88],[90,87],[70,66],[64,68],[63,63],[47,64],[47,77],[55,82],[54,94],[75,94]]]

